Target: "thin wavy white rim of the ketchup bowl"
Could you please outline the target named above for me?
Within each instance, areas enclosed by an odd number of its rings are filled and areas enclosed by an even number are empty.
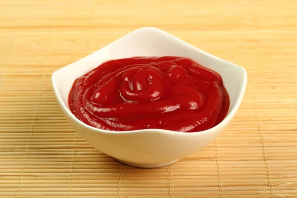
[[[81,120],[79,120],[71,111],[70,109],[67,107],[67,105],[64,103],[64,101],[62,100],[61,96],[60,96],[60,93],[57,91],[57,73],[61,72],[61,70],[64,70],[65,68],[67,67],[71,67],[72,63],[74,62],[78,62],[78,61],[81,61],[85,58],[87,58],[88,56],[92,55],[93,53],[96,53],[97,51],[101,50],[101,49],[104,49],[104,48],[107,48],[108,46],[112,45],[113,43],[115,43],[116,41],[120,40],[120,39],[123,39],[124,37],[130,35],[131,33],[134,33],[134,32],[137,32],[137,31],[142,31],[142,30],[154,30],[154,31],[159,31],[159,32],[162,32],[162,33],[165,33],[167,34],[167,36],[170,36],[170,37],[174,37],[176,40],[179,40],[183,45],[187,46],[188,48],[191,48],[191,49],[195,49],[195,50],[198,50],[200,51],[201,53],[204,53],[204,54],[207,54],[208,56],[210,56],[211,58],[214,58],[214,59],[217,59],[217,60],[220,60],[220,61],[225,61],[227,62],[228,64],[232,64],[233,66],[237,67],[238,69],[241,70],[241,72],[243,73],[243,84],[242,84],[242,89],[240,91],[240,94],[239,94],[239,97],[236,99],[236,102],[234,104],[234,107],[229,111],[229,113],[227,114],[227,116],[219,123],[217,124],[216,126],[212,127],[212,128],[209,128],[207,130],[203,130],[203,131],[198,131],[198,132],[177,132],[177,131],[171,131],[171,130],[166,130],[166,129],[139,129],[139,130],[132,130],[132,131],[109,131],[109,130],[104,130],[104,129],[99,129],[99,128],[96,128],[96,127],[93,127],[93,126],[90,126],[84,122],[82,122]],[[234,64],[232,62],[229,62],[227,60],[224,60],[222,58],[219,58],[209,52],[206,52],[202,49],[198,49],[197,47],[169,34],[168,32],[165,32],[159,28],[155,28],[155,27],[143,27],[143,28],[139,28],[139,29],[136,29],[134,31],[131,31],[129,32],[128,34],[120,37],[119,39],[116,39],[115,41],[107,44],[106,46],[90,53],[89,55],[77,60],[77,61],[74,61],[64,67],[61,67],[57,70],[55,70],[52,75],[51,75],[51,84],[52,84],[52,88],[53,88],[53,92],[55,94],[55,97],[56,99],[58,100],[58,103],[60,104],[60,107],[64,109],[64,113],[67,113],[68,116],[70,116],[71,118],[73,118],[73,120],[76,122],[76,123],[79,123],[80,125],[82,125],[83,127],[85,128],[88,128],[89,130],[92,130],[94,132],[98,132],[98,133],[105,133],[105,134],[135,134],[135,133],[144,133],[144,132],[158,132],[158,133],[166,133],[166,134],[171,134],[171,135],[187,135],[187,136],[191,136],[191,135],[195,135],[195,134],[206,134],[206,133],[211,133],[213,131],[217,131],[217,129],[219,129],[222,125],[226,124],[226,122],[229,122],[231,121],[231,119],[233,118],[233,116],[235,115],[235,113],[238,111],[241,103],[242,103],[242,100],[244,98],[244,95],[245,95],[245,91],[246,91],[246,87],[247,87],[247,70],[245,68],[243,68],[242,66],[239,66],[237,64]]]

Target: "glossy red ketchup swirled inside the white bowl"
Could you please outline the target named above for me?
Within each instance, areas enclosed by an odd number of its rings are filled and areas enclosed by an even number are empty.
[[[198,132],[220,123],[229,104],[218,73],[176,56],[106,61],[77,78],[69,94],[78,119],[110,131]]]

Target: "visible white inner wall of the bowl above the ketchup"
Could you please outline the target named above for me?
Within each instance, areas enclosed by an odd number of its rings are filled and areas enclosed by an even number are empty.
[[[223,78],[230,96],[229,112],[237,110],[243,98],[247,72],[244,68],[222,60],[157,28],[141,28],[108,46],[71,63],[52,75],[53,89],[58,100],[68,108],[68,94],[74,80],[94,69],[103,61],[131,56],[186,56],[217,71]]]

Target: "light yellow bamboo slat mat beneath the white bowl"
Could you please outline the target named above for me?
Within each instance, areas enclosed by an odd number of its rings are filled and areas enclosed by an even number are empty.
[[[0,198],[297,198],[297,1],[0,0]],[[145,26],[247,69],[211,144],[126,166],[67,123],[51,73]]]

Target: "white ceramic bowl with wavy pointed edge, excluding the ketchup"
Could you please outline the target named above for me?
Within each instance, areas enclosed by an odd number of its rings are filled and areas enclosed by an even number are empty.
[[[109,59],[132,56],[187,56],[218,72],[230,97],[225,119],[215,127],[194,133],[160,129],[114,132],[91,127],[69,110],[68,94],[74,80]],[[119,161],[137,167],[172,164],[213,141],[237,112],[247,86],[244,68],[222,60],[157,28],[141,28],[52,74],[56,99],[71,126],[90,145]]]

